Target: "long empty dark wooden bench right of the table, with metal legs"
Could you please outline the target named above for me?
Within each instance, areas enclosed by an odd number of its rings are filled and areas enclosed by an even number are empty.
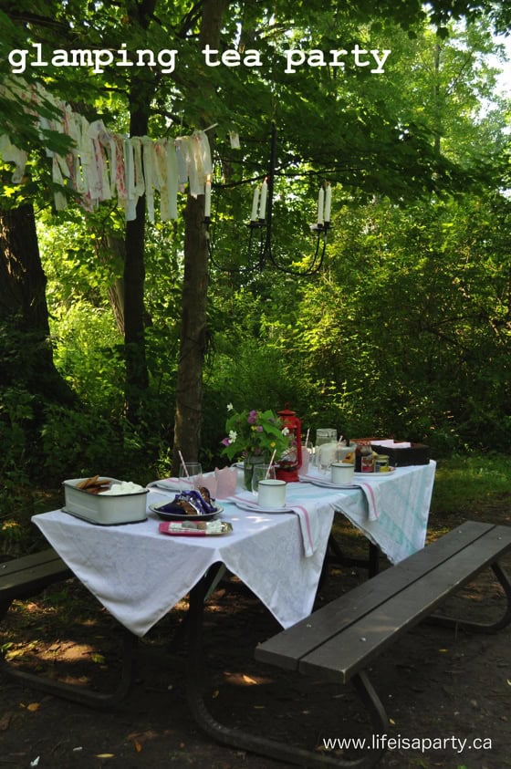
[[[511,548],[511,526],[465,522],[432,545],[330,602],[293,627],[255,649],[255,659],[326,681],[350,682],[367,708],[374,735],[389,731],[389,719],[367,668],[391,643],[425,618],[470,630],[495,632],[511,620],[511,582],[498,559]],[[504,589],[506,610],[484,624],[439,617],[435,610],[486,566]],[[200,607],[197,605],[197,611]],[[198,649],[194,650],[197,653]],[[193,714],[206,733],[219,742],[307,767],[366,769],[376,764],[384,741],[354,759],[319,754],[266,737],[231,729],[208,712],[201,682],[188,692]]]

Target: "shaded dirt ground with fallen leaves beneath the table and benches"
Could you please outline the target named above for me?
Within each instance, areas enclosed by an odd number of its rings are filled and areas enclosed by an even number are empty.
[[[484,511],[460,512],[442,521],[432,516],[430,531],[434,536],[466,518],[510,524],[510,502],[511,494]],[[365,552],[365,540],[349,525],[340,527],[338,540],[351,555]],[[365,578],[361,569],[332,565],[318,606]],[[453,601],[458,613],[478,617],[495,614],[501,605],[491,573]],[[214,743],[197,727],[184,691],[186,644],[179,638],[171,642],[186,608],[183,601],[141,639],[130,694],[113,710],[98,712],[57,699],[0,673],[0,767],[292,765]],[[234,577],[214,593],[205,615],[203,683],[215,717],[229,727],[241,726],[330,757],[334,751],[324,739],[369,735],[367,718],[350,687],[255,662],[256,644],[277,630],[276,621]],[[49,588],[34,601],[16,603],[0,626],[0,645],[10,664],[101,691],[119,673],[119,636],[119,626],[74,581]],[[381,759],[381,769],[511,766],[510,640],[511,627],[485,636],[424,624],[381,655],[370,678],[387,709],[388,736],[395,740]]]

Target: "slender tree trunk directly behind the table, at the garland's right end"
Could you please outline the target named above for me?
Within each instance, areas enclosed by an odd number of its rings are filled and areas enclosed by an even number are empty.
[[[218,48],[222,16],[229,0],[204,0],[199,46]],[[210,82],[200,85],[207,104]],[[211,121],[205,115],[204,127]],[[210,137],[211,140],[211,137]],[[185,211],[184,277],[180,356],[177,372],[172,472],[177,473],[182,452],[186,462],[199,459],[203,421],[203,359],[206,343],[208,250],[204,226],[204,198],[188,197]]]

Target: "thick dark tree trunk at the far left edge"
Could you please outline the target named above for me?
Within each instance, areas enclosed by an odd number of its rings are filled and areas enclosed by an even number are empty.
[[[0,323],[9,341],[19,337],[3,356],[0,384],[23,384],[32,394],[72,404],[76,397],[53,362],[46,286],[32,205],[0,209]]]

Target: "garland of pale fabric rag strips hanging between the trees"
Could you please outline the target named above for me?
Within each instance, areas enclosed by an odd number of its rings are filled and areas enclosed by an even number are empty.
[[[102,201],[117,198],[126,220],[130,221],[135,219],[137,203],[145,194],[148,216],[154,222],[154,192],[157,191],[160,218],[166,222],[178,218],[178,192],[184,192],[186,185],[194,198],[204,194],[206,179],[213,173],[205,131],[196,130],[191,136],[174,139],[130,137],[110,132],[102,120],[89,123],[66,102],[40,86],[27,88],[30,99],[24,99],[26,109],[36,117],[41,140],[45,141],[47,131],[57,131],[73,140],[73,147],[66,156],[46,150],[47,158],[52,162],[53,182],[58,185],[54,193],[57,211],[68,205],[68,188],[78,193],[78,202],[86,211],[93,211]],[[38,112],[37,103],[41,99],[55,108],[57,117],[47,118]],[[3,135],[0,136],[0,154],[4,161],[15,164],[12,181],[21,182],[26,168],[26,151],[17,148],[9,136]]]

